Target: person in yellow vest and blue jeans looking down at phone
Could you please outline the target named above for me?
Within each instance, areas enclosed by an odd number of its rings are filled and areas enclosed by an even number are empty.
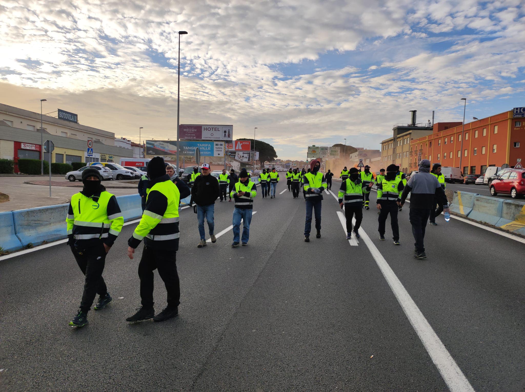
[[[243,220],[243,236],[240,240],[243,246],[248,245],[250,238],[250,223],[251,213],[253,212],[253,202],[257,195],[257,188],[255,183],[248,178],[248,172],[243,169],[239,173],[239,182],[235,183],[235,189],[231,192],[231,196],[235,201],[235,208],[233,211],[233,243],[232,247],[239,246],[240,236],[240,221]]]

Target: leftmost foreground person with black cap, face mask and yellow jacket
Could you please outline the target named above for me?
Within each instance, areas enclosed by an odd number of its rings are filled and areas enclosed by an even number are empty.
[[[84,291],[77,315],[69,323],[84,326],[88,323],[88,312],[98,293],[96,310],[111,302],[106,282],[102,278],[106,255],[117,239],[124,224],[115,195],[106,191],[102,177],[95,168],[82,171],[82,190],[71,197],[67,224],[67,244],[85,275]]]

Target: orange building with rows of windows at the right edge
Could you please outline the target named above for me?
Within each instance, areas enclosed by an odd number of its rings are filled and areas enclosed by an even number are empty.
[[[417,170],[419,153],[421,159],[442,166],[459,168],[461,159],[465,175],[483,174],[488,166],[514,167],[518,159],[525,162],[524,120],[508,111],[465,124],[463,151],[461,123],[436,123],[431,135],[411,141],[409,171]]]

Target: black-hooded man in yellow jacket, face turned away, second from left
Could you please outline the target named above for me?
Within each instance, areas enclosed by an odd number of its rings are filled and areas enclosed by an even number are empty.
[[[164,168],[164,159],[154,157],[148,164],[150,191],[146,209],[139,225],[128,239],[128,257],[133,259],[135,248],[144,239],[139,263],[140,297],[142,306],[126,321],[135,322],[153,318],[163,321],[178,314],[181,298],[177,274],[178,203],[180,193],[170,181]],[[157,269],[167,291],[167,306],[157,315],[153,309],[153,271]]]

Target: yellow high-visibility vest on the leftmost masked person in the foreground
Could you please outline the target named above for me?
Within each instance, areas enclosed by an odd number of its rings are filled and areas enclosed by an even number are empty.
[[[73,213],[66,217],[67,234],[75,239],[108,238],[108,234],[119,235],[124,224],[121,212],[108,216],[108,203],[113,194],[102,191],[100,196],[87,197],[75,193],[71,197]]]

